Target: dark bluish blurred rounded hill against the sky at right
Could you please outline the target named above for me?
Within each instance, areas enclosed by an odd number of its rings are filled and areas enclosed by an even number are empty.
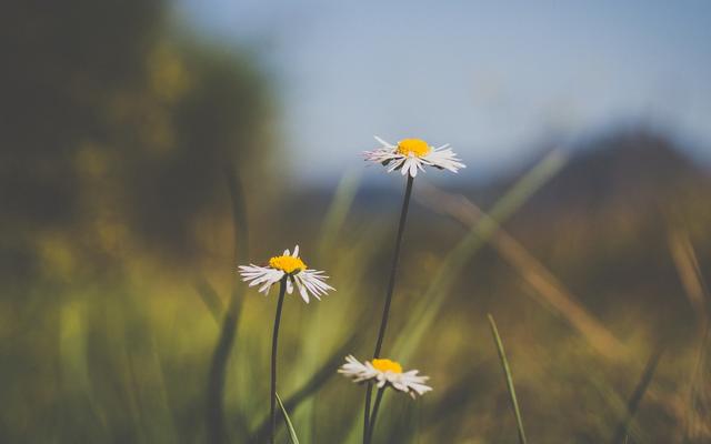
[[[565,169],[528,206],[540,212],[619,205],[661,210],[679,191],[709,181],[708,172],[683,152],[664,134],[645,129],[598,135],[573,148]]]

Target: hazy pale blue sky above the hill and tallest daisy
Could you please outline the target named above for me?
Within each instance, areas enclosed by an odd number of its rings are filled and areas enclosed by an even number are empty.
[[[475,176],[621,121],[711,158],[711,1],[177,4],[182,22],[260,54],[306,182],[361,167],[373,134],[449,142]]]

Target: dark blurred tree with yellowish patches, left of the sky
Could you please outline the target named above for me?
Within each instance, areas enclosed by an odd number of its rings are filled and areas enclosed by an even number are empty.
[[[250,58],[177,36],[167,16],[160,0],[3,8],[0,218],[14,239],[0,248],[14,275],[44,231],[91,253],[129,236],[187,254],[224,167],[262,158],[269,100]]]

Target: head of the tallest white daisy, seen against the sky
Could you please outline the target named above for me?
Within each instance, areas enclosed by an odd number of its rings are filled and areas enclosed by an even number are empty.
[[[449,143],[442,147],[430,147],[420,139],[404,139],[393,145],[375,135],[375,140],[382,147],[365,151],[367,161],[381,163],[388,167],[388,172],[400,170],[402,175],[418,175],[418,170],[424,171],[424,167],[434,167],[440,170],[449,170],[455,173],[459,169],[467,168],[461,159],[449,148]]]

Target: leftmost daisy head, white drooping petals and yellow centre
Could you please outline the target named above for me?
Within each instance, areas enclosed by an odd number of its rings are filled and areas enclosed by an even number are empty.
[[[249,282],[249,286],[259,287],[260,293],[269,294],[269,290],[276,283],[279,283],[287,276],[287,293],[293,292],[294,285],[299,289],[301,299],[308,304],[309,294],[321,300],[329,291],[336,291],[331,285],[323,282],[329,276],[323,275],[322,271],[310,270],[307,264],[299,258],[299,245],[294,246],[293,254],[289,250],[280,256],[273,256],[266,266],[254,264],[240,265],[240,274],[244,282]]]

